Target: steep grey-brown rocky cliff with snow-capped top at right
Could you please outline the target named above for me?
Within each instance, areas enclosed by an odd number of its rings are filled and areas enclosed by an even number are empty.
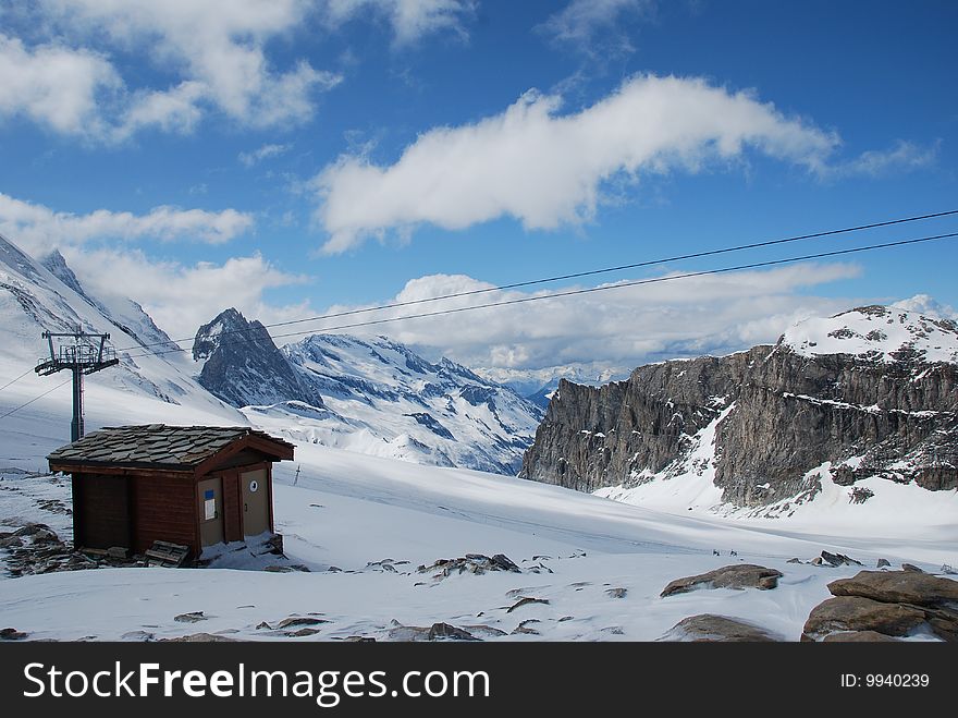
[[[958,326],[861,307],[775,345],[642,366],[600,388],[563,381],[520,476],[582,491],[708,476],[762,506],[880,476],[958,487]]]

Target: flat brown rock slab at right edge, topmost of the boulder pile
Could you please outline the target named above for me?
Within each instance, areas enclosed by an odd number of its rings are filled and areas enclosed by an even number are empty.
[[[914,571],[859,571],[828,584],[833,596],[861,596],[886,604],[938,607],[958,604],[958,581]]]

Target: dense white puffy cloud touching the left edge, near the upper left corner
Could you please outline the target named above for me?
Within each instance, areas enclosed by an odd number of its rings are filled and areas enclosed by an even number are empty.
[[[0,34],[0,119],[22,114],[59,133],[96,135],[98,100],[121,85],[100,54],[56,44],[27,48]]]

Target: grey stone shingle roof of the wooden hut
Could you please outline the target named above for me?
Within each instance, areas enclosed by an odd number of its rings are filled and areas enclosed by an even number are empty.
[[[144,426],[106,427],[65,447],[47,459],[57,464],[156,465],[164,468],[196,466],[231,443],[256,436],[284,448],[292,445],[248,426]]]

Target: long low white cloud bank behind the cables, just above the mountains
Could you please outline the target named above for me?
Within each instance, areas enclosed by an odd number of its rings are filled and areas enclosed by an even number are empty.
[[[648,361],[723,354],[774,342],[798,319],[828,316],[860,304],[858,300],[826,299],[808,292],[809,288],[859,273],[855,265],[800,264],[765,271],[622,287],[342,331],[388,334],[426,349],[433,356],[447,355],[467,366],[538,369],[597,362],[607,366],[637,366]],[[409,281],[390,303],[490,287],[462,275],[434,275]],[[552,291],[491,292],[320,321],[316,328],[318,331],[322,327],[500,300],[521,301]],[[330,312],[349,308],[354,307],[331,307]]]

